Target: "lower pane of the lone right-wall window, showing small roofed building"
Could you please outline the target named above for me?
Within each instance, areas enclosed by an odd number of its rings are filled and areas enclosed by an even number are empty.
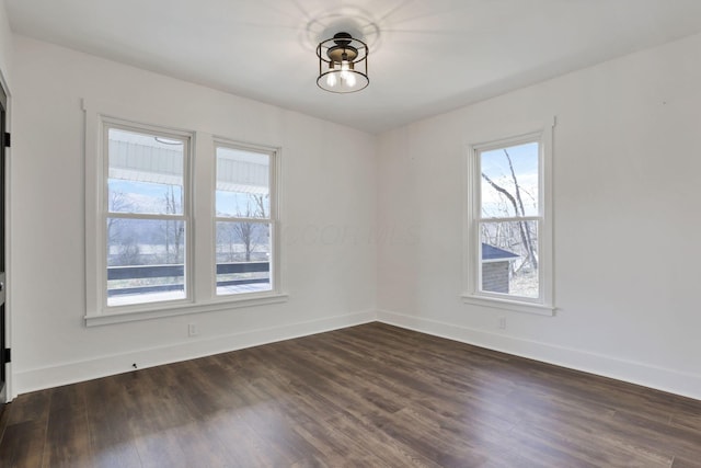
[[[538,221],[481,222],[480,289],[538,298]]]

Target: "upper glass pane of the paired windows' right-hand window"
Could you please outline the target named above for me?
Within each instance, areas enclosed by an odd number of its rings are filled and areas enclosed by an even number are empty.
[[[269,218],[269,155],[217,147],[217,216]]]

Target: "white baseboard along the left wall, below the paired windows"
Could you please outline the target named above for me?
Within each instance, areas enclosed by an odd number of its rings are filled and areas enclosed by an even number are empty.
[[[130,372],[134,370],[133,363],[140,369],[171,364],[372,322],[376,317],[375,311],[364,311],[23,370],[13,375],[13,398],[28,391]]]

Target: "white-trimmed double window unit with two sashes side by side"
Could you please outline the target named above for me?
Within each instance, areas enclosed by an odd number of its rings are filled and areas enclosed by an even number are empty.
[[[279,149],[85,107],[88,326],[278,303]]]

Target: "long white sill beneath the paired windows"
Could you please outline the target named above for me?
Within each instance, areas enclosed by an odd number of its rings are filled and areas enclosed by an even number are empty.
[[[237,298],[219,298],[208,303],[187,303],[161,305],[156,309],[152,306],[146,310],[125,310],[122,312],[107,311],[85,316],[85,327],[106,326],[112,323],[125,323],[137,320],[151,320],[162,317],[184,316],[188,313],[214,312],[218,310],[235,309],[241,307],[264,306],[287,301],[287,294],[246,295]]]

